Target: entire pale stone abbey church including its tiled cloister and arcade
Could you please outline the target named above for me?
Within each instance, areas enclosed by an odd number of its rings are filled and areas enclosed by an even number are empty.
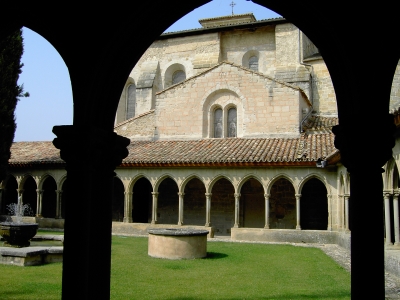
[[[188,226],[210,237],[349,248],[350,174],[334,146],[336,97],[321,53],[283,18],[199,22],[162,34],[127,78],[115,132],[131,144],[115,170],[113,232]],[[400,68],[396,125],[399,108]],[[41,227],[62,228],[74,197],[59,150],[18,142],[11,152],[2,218],[21,195]],[[382,177],[388,248],[400,245],[398,162],[400,143]]]

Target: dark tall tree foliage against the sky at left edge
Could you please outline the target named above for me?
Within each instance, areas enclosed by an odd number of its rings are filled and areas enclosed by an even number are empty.
[[[18,85],[23,51],[21,28],[0,40],[0,182],[7,175],[16,129],[15,107],[20,97],[29,96],[23,85]]]

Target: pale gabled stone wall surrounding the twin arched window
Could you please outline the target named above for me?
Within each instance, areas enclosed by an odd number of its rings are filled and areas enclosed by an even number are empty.
[[[238,136],[299,134],[300,93],[231,64],[187,80],[157,95],[156,119],[161,139],[204,138],[210,130],[215,93],[236,94]],[[217,97],[218,98],[218,97]],[[233,100],[232,100],[233,101]]]

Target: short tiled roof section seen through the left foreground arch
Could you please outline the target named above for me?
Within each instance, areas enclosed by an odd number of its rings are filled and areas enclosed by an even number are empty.
[[[17,142],[11,145],[9,165],[64,164],[52,142]]]

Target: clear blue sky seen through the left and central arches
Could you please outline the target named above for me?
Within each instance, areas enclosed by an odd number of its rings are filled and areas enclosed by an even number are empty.
[[[231,0],[214,0],[175,22],[165,32],[200,28],[202,18],[232,14]],[[280,17],[263,6],[246,0],[235,0],[235,14],[252,12],[257,20]],[[72,91],[68,69],[58,52],[34,31],[23,28],[24,54],[22,74],[29,98],[21,98],[15,111],[15,142],[51,141],[54,125],[72,124]]]

